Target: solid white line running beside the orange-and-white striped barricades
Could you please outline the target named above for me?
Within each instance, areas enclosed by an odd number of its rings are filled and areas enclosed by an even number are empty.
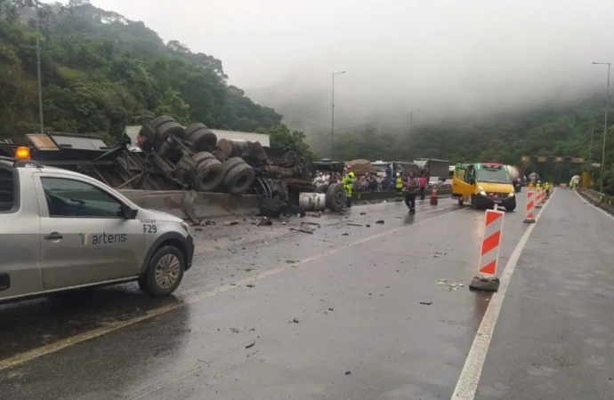
[[[544,214],[545,207],[552,202],[555,194],[556,190],[550,196],[550,199],[544,204],[541,212],[537,214],[535,223],[530,224],[529,228],[524,231],[524,234],[521,236],[521,240],[513,250],[510,260],[508,260],[507,264],[505,264],[505,268],[500,277],[501,283],[499,284],[499,290],[492,295],[489,302],[489,307],[486,309],[486,313],[484,313],[484,317],[481,320],[478,332],[475,333],[473,345],[471,350],[469,350],[469,354],[465,360],[465,365],[463,366],[463,371],[461,372],[458,382],[456,383],[456,388],[452,393],[452,400],[473,400],[475,397],[475,392],[478,389],[478,384],[480,383],[481,369],[486,361],[490,340],[492,340],[493,333],[495,332],[495,325],[497,324],[497,319],[499,317],[499,313],[501,312],[501,306],[503,305],[503,300],[505,299],[507,286],[512,280],[513,271],[516,269],[516,264],[518,264],[518,260],[520,259],[521,253],[524,250],[524,246],[529,241],[529,236],[531,236],[533,229],[535,229],[537,226],[537,222],[539,222],[539,219]]]

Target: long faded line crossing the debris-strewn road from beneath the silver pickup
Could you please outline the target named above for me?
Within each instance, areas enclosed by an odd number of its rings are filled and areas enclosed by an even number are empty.
[[[14,367],[16,365],[27,363],[28,361],[32,361],[32,360],[34,360],[34,359],[36,359],[38,357],[46,356],[46,355],[55,353],[57,351],[60,351],[63,348],[69,348],[70,346],[73,346],[73,345],[76,345],[76,344],[79,344],[79,343],[83,343],[86,340],[92,340],[92,339],[98,338],[100,336],[103,336],[103,335],[105,335],[107,333],[115,332],[115,331],[120,330],[122,328],[125,328],[127,326],[140,323],[141,321],[153,318],[154,316],[160,316],[160,315],[165,314],[165,313],[167,313],[169,311],[172,311],[172,310],[174,310],[176,308],[180,308],[180,307],[182,307],[184,305],[197,303],[198,301],[205,300],[205,299],[207,299],[209,297],[213,297],[213,296],[215,296],[217,294],[220,294],[220,293],[223,293],[223,292],[228,292],[228,291],[230,291],[232,289],[237,289],[238,287],[241,287],[244,284],[249,284],[251,282],[255,282],[257,280],[263,279],[263,278],[265,278],[267,276],[279,274],[280,272],[286,271],[288,269],[296,268],[299,265],[306,264],[306,263],[311,262],[311,261],[319,260],[321,258],[324,258],[324,257],[327,257],[329,255],[335,254],[335,252],[342,252],[342,251],[344,251],[344,250],[346,250],[346,249],[348,249],[350,247],[357,246],[359,244],[367,243],[367,242],[369,242],[371,240],[375,240],[375,239],[377,239],[379,237],[390,235],[392,233],[399,232],[400,230],[403,230],[403,229],[408,229],[408,228],[411,228],[411,227],[416,227],[416,225],[423,224],[424,222],[429,222],[429,221],[432,221],[432,220],[437,220],[437,219],[440,219],[442,217],[448,217],[449,215],[455,214],[456,212],[462,212],[462,211],[466,211],[466,210],[468,210],[468,209],[461,208],[461,209],[455,210],[453,212],[445,212],[445,213],[436,215],[436,216],[434,216],[432,218],[427,218],[426,220],[419,220],[419,221],[417,221],[414,224],[403,225],[402,227],[398,227],[398,228],[392,228],[392,229],[387,230],[385,232],[381,232],[381,233],[378,233],[376,235],[368,236],[368,237],[365,237],[363,239],[357,240],[356,242],[353,242],[351,244],[345,244],[343,246],[335,247],[334,249],[331,249],[331,250],[329,250],[327,252],[320,252],[318,254],[314,254],[313,256],[307,257],[306,259],[303,259],[303,260],[299,260],[299,261],[293,263],[292,265],[287,265],[287,263],[284,263],[284,264],[280,265],[278,268],[273,268],[273,269],[270,269],[270,270],[265,271],[263,273],[255,273],[254,276],[248,276],[248,277],[246,277],[244,279],[232,282],[231,284],[220,286],[219,288],[216,288],[216,289],[214,289],[212,291],[204,292],[204,293],[201,293],[201,294],[197,294],[197,295],[192,296],[192,297],[190,297],[190,298],[188,298],[188,299],[186,299],[184,301],[177,302],[177,303],[174,303],[174,304],[169,304],[167,306],[163,306],[163,307],[160,307],[160,308],[151,309],[144,316],[137,316],[137,317],[135,317],[133,319],[130,319],[130,320],[127,320],[127,321],[117,321],[117,322],[114,322],[114,323],[111,323],[111,324],[106,324],[105,326],[101,326],[100,328],[93,329],[92,331],[80,333],[80,334],[77,334],[75,336],[63,339],[63,340],[58,340],[56,342],[53,342],[51,344],[42,346],[40,348],[35,348],[35,349],[32,349],[32,350],[26,351],[24,353],[20,353],[18,355],[6,358],[4,360],[0,360],[0,372],[4,371],[6,369],[12,368],[12,367]]]

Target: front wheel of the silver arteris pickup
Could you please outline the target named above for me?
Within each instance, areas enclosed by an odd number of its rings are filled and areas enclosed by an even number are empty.
[[[139,278],[141,291],[151,297],[168,296],[182,283],[185,259],[174,246],[158,249],[149,260],[145,275]]]

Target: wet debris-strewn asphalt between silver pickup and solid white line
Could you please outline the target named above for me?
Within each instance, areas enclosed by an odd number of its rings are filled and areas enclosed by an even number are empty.
[[[527,228],[522,209],[505,216],[500,268]],[[410,217],[404,204],[375,204],[288,233],[300,221],[204,227],[170,300],[128,284],[0,307],[0,359],[11,360],[176,305],[4,368],[0,398],[449,398],[489,304],[466,288],[483,212],[440,199]]]

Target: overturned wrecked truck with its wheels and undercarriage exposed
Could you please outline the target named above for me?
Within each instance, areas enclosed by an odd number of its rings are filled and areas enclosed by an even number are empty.
[[[342,185],[330,185],[325,193],[312,185],[314,168],[340,172],[342,163],[309,163],[290,149],[271,148],[268,135],[226,133],[158,116],[132,134],[126,129],[114,146],[70,133],[26,139],[41,164],[85,173],[113,188],[255,194],[270,216],[343,208]],[[0,156],[12,156],[15,147],[0,144]]]

